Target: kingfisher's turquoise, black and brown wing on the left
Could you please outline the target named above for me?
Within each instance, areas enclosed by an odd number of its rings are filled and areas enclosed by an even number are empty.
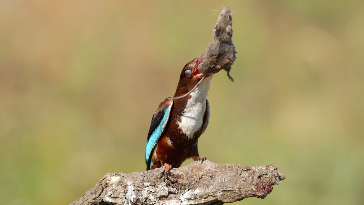
[[[145,146],[145,162],[147,164],[147,170],[149,170],[153,165],[151,162],[153,151],[170,119],[172,107],[173,100],[167,98],[165,101],[161,102],[158,108],[154,111]]]

